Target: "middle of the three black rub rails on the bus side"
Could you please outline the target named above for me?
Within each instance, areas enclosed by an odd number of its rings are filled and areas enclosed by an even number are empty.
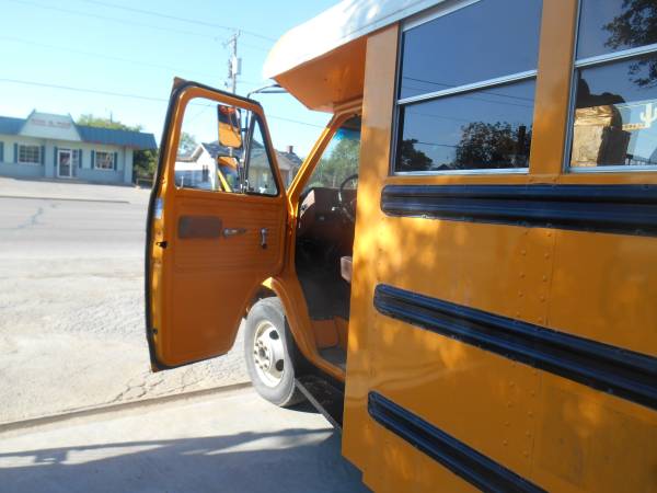
[[[657,357],[389,285],[377,286],[374,307],[384,316],[657,410]]]

